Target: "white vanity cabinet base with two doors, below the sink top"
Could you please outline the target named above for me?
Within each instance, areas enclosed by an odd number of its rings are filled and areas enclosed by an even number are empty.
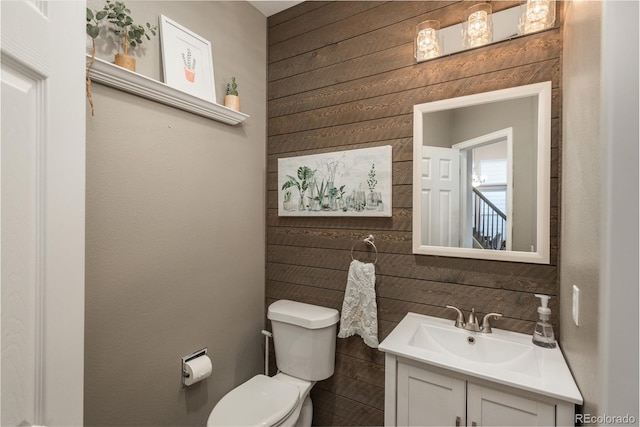
[[[385,426],[574,425],[574,405],[386,354]]]

